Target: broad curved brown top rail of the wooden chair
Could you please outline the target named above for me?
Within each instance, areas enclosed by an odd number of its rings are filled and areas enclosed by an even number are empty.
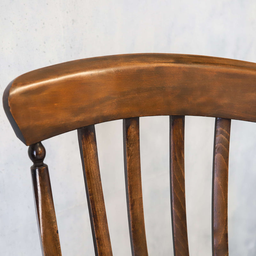
[[[135,116],[191,115],[256,121],[256,64],[182,54],[74,60],[14,79],[3,96],[27,145]],[[40,95],[40,97],[38,97]]]

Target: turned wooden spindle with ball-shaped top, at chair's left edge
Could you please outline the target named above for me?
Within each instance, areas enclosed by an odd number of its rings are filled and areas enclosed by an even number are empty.
[[[28,149],[36,217],[43,256],[61,256],[59,231],[55,216],[48,166],[43,163],[45,149],[41,142]]]

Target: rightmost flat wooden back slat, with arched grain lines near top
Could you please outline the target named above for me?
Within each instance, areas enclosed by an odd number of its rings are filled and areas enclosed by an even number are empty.
[[[228,255],[228,156],[231,119],[216,118],[212,171],[212,255]]]

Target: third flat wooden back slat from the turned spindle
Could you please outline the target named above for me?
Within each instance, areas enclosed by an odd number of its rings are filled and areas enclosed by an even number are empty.
[[[185,116],[170,116],[170,183],[174,256],[188,256],[184,166]]]

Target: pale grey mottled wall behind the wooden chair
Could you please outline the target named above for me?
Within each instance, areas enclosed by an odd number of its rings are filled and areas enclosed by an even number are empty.
[[[16,76],[101,55],[170,52],[256,62],[254,0],[11,1],[0,3],[0,90]],[[27,147],[0,107],[0,248],[40,255]],[[186,117],[185,175],[190,255],[211,255],[214,119]],[[114,255],[131,255],[122,121],[96,125]],[[140,119],[141,172],[149,255],[172,255],[169,119]],[[63,255],[93,255],[77,133],[44,141]],[[256,254],[256,124],[232,121],[230,255]]]

